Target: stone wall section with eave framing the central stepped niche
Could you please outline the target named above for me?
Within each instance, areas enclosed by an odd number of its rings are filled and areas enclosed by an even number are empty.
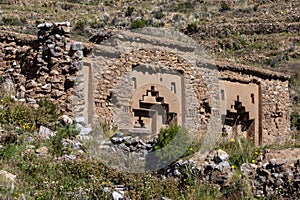
[[[182,125],[194,135],[203,135],[208,127],[212,129],[210,133],[217,135],[221,121],[218,118],[219,103],[215,100],[219,91],[216,66],[214,69],[197,66],[197,45],[176,43],[173,39],[152,37],[151,34],[121,34],[95,46],[92,54],[84,59],[86,66],[93,71],[90,78],[94,94],[86,102],[95,100],[92,110],[97,111],[96,120],[130,129],[130,98],[134,93],[131,72],[136,66],[153,65],[178,71],[184,77]],[[215,119],[215,123],[211,119]]]

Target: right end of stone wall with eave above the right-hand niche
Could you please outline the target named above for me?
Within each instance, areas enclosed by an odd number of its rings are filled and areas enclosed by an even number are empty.
[[[255,142],[260,145],[284,143],[291,139],[290,101],[288,77],[268,70],[248,71],[248,69],[219,66],[222,78],[240,83],[253,83],[259,87],[259,131]],[[237,73],[238,71],[240,73]],[[243,73],[244,72],[244,73]]]

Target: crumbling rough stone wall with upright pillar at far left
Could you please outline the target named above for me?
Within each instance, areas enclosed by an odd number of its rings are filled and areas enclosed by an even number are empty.
[[[73,114],[73,88],[82,66],[82,43],[70,40],[70,24],[45,23],[38,37],[0,33],[1,79],[12,79],[16,97],[36,104],[48,99]]]

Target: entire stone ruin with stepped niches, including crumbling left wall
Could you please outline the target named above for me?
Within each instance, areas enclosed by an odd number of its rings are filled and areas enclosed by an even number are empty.
[[[1,81],[16,98],[56,103],[82,124],[130,134],[176,124],[194,135],[244,135],[256,145],[290,139],[289,76],[214,62],[177,32],[146,28],[100,44],[70,40],[69,23],[44,23],[38,37],[0,32]]]

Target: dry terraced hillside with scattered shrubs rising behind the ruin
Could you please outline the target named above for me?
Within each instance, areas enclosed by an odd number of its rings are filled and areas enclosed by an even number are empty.
[[[297,0],[3,0],[0,5],[1,28],[17,32],[34,33],[44,21],[70,21],[74,38],[88,40],[103,28],[156,26],[191,35],[218,60],[292,67],[300,56]]]

